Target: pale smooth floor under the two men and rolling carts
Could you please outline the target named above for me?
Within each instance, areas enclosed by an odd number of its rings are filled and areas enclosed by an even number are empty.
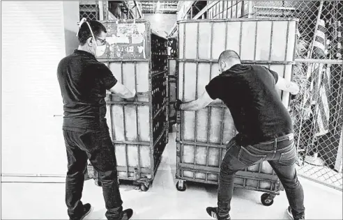
[[[217,187],[190,184],[184,192],[175,188],[175,134],[163,153],[162,162],[146,192],[121,184],[124,208],[134,210],[133,219],[209,219],[207,206],[217,203]],[[306,219],[343,219],[342,191],[323,187],[300,178],[305,191]],[[2,183],[1,219],[68,219],[64,203],[63,183]],[[284,191],[270,207],[261,205],[261,193],[235,189],[232,199],[232,219],[288,219],[288,202]],[[102,190],[92,180],[84,185],[82,201],[93,205],[86,219],[106,219]]]

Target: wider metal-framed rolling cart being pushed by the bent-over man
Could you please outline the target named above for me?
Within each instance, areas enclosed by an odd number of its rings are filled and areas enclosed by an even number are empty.
[[[219,74],[218,57],[235,50],[242,63],[264,65],[291,79],[296,19],[205,19],[178,22],[178,98],[197,99]],[[289,93],[278,91],[289,106]],[[176,177],[218,183],[226,144],[236,135],[229,109],[213,101],[199,111],[178,112]],[[268,162],[239,171],[236,187],[278,194],[282,189]]]

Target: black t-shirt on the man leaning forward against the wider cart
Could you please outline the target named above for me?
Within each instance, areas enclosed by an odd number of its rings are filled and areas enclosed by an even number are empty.
[[[234,65],[206,86],[227,105],[241,144],[273,140],[293,132],[291,116],[277,94],[276,72],[259,65]],[[238,138],[239,137],[239,138]]]

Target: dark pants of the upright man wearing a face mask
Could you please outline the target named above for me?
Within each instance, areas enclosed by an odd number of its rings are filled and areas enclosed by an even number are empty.
[[[66,205],[70,219],[79,219],[83,214],[83,204],[80,200],[87,159],[99,173],[107,219],[121,219],[123,201],[121,201],[117,180],[116,155],[107,125],[97,132],[63,130],[63,135],[68,157]]]

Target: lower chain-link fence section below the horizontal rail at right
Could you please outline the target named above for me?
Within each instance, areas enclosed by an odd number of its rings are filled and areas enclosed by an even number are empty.
[[[342,189],[342,64],[312,62],[294,66],[294,81],[300,85],[300,93],[291,101],[298,173]]]

